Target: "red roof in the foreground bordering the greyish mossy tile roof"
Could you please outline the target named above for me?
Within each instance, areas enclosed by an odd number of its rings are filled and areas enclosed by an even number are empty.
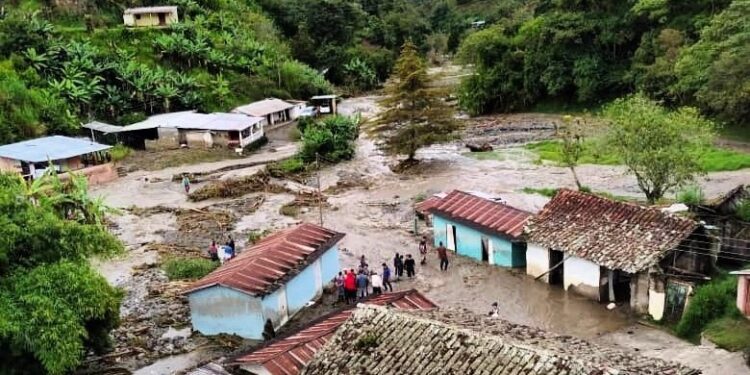
[[[370,297],[364,303],[394,306],[402,310],[431,310],[437,307],[422,293],[411,289]],[[314,320],[306,328],[238,357],[234,362],[264,367],[272,375],[296,375],[312,360],[354,311],[354,306]]]

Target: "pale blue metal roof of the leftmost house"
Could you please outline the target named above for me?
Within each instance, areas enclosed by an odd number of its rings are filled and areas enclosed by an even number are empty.
[[[48,160],[68,159],[110,148],[112,146],[92,142],[88,139],[53,135],[0,146],[0,157],[29,163],[41,163]]]

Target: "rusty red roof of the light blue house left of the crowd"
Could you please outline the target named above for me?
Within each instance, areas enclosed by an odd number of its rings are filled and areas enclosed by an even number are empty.
[[[196,281],[184,293],[215,285],[254,296],[271,293],[342,237],[343,233],[309,223],[277,232]]]

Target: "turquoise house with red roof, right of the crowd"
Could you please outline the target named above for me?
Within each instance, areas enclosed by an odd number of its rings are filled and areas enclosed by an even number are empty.
[[[504,267],[523,267],[521,238],[530,213],[488,198],[454,190],[429,211],[435,246]]]

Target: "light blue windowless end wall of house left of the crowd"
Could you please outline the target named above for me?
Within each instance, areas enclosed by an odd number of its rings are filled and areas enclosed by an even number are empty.
[[[204,335],[236,334],[249,339],[263,338],[261,301],[222,286],[199,290],[188,296],[193,329]]]

